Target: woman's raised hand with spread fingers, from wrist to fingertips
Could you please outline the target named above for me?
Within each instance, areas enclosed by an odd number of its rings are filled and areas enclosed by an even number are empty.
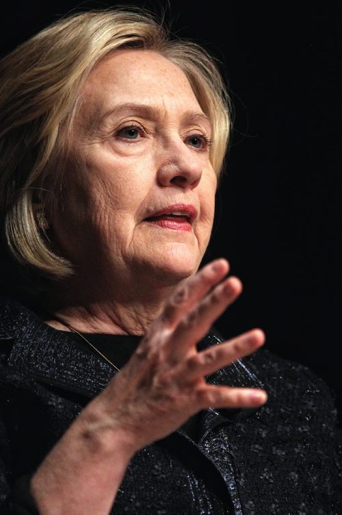
[[[131,360],[94,402],[105,417],[94,430],[119,429],[135,450],[159,440],[207,407],[254,407],[263,390],[207,384],[205,376],[261,347],[254,329],[198,352],[196,343],[241,292],[236,277],[224,279],[228,263],[216,260],[181,284],[163,313],[150,325]],[[224,279],[224,280],[222,280]]]

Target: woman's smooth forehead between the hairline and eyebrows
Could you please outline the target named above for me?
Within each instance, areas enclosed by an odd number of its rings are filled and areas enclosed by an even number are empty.
[[[122,49],[94,66],[81,91],[83,115],[101,115],[118,103],[142,103],[165,112],[203,114],[185,73],[155,51]]]

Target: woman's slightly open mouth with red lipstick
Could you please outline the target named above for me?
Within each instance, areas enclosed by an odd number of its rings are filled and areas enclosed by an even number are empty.
[[[144,221],[164,229],[191,231],[196,216],[197,210],[194,205],[175,204],[153,213]]]

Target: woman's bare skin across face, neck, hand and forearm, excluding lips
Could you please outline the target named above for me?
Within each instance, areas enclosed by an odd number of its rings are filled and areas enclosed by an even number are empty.
[[[210,138],[187,77],[155,52],[111,53],[83,86],[66,188],[49,219],[49,236],[75,273],[51,290],[46,322],[144,338],[36,470],[40,514],[108,514],[137,450],[207,407],[266,400],[261,390],[205,381],[258,349],[260,329],[196,349],[241,292],[239,279],[225,278],[226,260],[197,273],[217,186]],[[172,205],[194,207],[189,230],[148,221]]]

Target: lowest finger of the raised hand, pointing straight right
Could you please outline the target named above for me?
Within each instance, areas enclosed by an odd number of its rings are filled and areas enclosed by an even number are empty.
[[[258,407],[267,401],[267,393],[259,388],[232,388],[207,384],[197,392],[200,409],[209,407]]]

